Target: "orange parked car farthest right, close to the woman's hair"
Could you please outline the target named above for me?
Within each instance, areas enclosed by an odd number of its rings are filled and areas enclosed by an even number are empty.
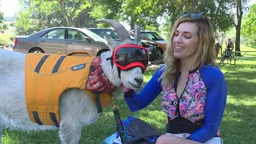
[[[134,32],[134,30],[131,30],[131,32]],[[166,45],[168,42],[160,37],[158,33],[150,30],[141,30],[141,34],[148,40],[156,42],[162,51],[166,51]]]

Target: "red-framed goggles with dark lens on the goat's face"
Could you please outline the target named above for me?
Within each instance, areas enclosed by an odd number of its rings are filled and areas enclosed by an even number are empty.
[[[122,45],[114,50],[113,62],[120,70],[130,70],[139,66],[144,73],[148,61],[148,50],[142,46]]]

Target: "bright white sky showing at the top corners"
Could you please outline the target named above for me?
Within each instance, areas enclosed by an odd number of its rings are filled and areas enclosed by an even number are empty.
[[[256,0],[250,0],[249,5],[251,6]],[[4,17],[13,17],[18,12],[18,0],[2,0],[2,6],[0,10],[3,12]]]

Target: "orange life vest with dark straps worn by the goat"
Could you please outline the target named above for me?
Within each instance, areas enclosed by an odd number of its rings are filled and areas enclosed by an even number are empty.
[[[95,98],[93,91],[86,90],[94,59],[65,54],[26,54],[26,108],[30,120],[40,125],[59,126],[60,97],[70,88],[84,90],[94,104],[110,106],[110,94],[101,93]]]

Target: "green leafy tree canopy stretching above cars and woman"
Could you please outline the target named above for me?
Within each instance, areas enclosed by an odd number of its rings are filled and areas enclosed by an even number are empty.
[[[237,0],[19,0],[16,16],[18,34],[32,34],[53,26],[106,27],[96,20],[111,18],[134,23],[142,30],[170,33],[170,27],[182,12],[204,12],[219,32],[234,26]],[[241,1],[241,0],[240,0]]]

